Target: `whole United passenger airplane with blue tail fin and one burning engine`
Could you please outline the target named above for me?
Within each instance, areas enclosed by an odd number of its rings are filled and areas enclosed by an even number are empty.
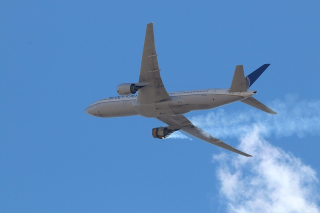
[[[152,129],[154,138],[163,139],[174,131],[181,130],[211,144],[249,157],[252,155],[194,126],[183,114],[193,110],[216,108],[235,101],[241,101],[270,114],[276,114],[275,111],[252,97],[257,90],[248,90],[269,65],[269,63],[263,64],[246,77],[244,77],[243,66],[236,65],[230,88],[206,88],[168,93],[160,77],[154,45],[153,22],[151,22],[146,25],[139,81],[119,84],[116,88],[119,96],[97,100],[90,104],[85,112],[96,117],[131,115],[153,117],[167,124],[167,126]]]

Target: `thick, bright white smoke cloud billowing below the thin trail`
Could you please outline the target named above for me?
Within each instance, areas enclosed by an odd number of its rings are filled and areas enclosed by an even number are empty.
[[[228,212],[320,212],[315,171],[291,153],[273,146],[258,124],[244,135],[239,148],[253,158],[214,155],[220,194]],[[227,155],[227,156],[226,156]]]

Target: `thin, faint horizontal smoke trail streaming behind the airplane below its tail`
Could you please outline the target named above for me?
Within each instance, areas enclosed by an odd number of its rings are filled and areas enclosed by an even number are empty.
[[[298,100],[287,95],[284,101],[274,100],[269,104],[278,114],[270,115],[255,108],[241,112],[225,112],[218,108],[205,116],[193,116],[193,124],[203,128],[215,137],[239,137],[252,130],[252,124],[262,124],[263,135],[274,134],[276,137],[296,134],[319,134],[320,130],[320,100]]]

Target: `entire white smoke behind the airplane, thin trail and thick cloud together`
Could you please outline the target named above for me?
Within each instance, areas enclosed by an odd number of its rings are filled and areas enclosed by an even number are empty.
[[[223,205],[227,212],[320,212],[314,169],[265,139],[320,134],[320,100],[299,101],[288,95],[269,106],[278,114],[254,108],[228,113],[220,108],[190,118],[220,139],[239,138],[238,148],[254,155],[223,152],[213,156]]]

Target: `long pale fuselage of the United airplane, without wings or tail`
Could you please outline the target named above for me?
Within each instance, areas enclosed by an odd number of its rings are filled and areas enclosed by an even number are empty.
[[[197,89],[169,92],[170,100],[155,103],[140,103],[137,95],[107,97],[90,104],[85,112],[96,117],[120,117],[141,115],[161,117],[184,114],[193,110],[219,107],[245,99],[255,94],[255,90],[229,92],[228,89]]]

